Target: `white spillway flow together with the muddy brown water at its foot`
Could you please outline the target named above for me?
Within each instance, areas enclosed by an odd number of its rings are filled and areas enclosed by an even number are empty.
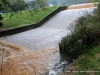
[[[53,69],[60,61],[58,43],[70,33],[70,24],[92,10],[64,10],[39,28],[1,37],[2,75],[44,75]]]

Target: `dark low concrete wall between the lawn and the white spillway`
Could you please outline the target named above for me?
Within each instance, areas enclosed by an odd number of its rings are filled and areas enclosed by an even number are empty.
[[[30,29],[35,29],[37,27],[40,27],[45,22],[47,22],[51,17],[56,15],[58,12],[66,10],[66,9],[67,9],[67,6],[59,7],[57,9],[55,9],[53,12],[51,12],[49,15],[47,15],[46,17],[41,19],[38,23],[29,24],[29,25],[23,26],[23,27],[18,27],[18,28],[13,28],[13,29],[0,31],[0,37],[7,36],[7,35],[13,35],[13,34],[21,33],[21,32],[24,32],[24,31],[27,31],[27,30],[30,30]]]

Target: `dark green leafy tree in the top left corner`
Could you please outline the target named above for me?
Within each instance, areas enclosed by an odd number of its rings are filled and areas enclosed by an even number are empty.
[[[24,0],[1,0],[0,4],[5,10],[14,12],[24,10],[27,7]]]

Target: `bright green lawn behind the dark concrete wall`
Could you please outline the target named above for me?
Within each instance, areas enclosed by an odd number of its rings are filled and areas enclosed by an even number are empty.
[[[56,8],[58,8],[58,6],[48,7],[44,10],[38,10],[37,13],[34,13],[33,10],[21,11],[18,13],[14,13],[13,16],[11,16],[12,13],[3,14],[2,16],[4,17],[4,25],[2,28],[10,29],[36,23]]]

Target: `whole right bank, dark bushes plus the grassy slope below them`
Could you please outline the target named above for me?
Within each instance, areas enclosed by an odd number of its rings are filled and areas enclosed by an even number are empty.
[[[92,15],[82,16],[76,22],[72,33],[59,43],[59,48],[62,59],[77,60],[61,75],[100,75],[100,4]],[[68,71],[74,73],[68,74]]]

